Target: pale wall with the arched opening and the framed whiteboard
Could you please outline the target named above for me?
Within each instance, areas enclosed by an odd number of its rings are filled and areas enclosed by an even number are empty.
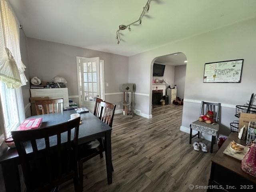
[[[186,38],[129,57],[129,82],[137,83],[137,92],[144,95],[135,98],[135,108],[151,114],[152,64],[156,57],[183,52],[188,60],[184,92],[182,126],[198,118],[198,101],[220,102],[220,131],[228,128],[228,122],[236,118],[234,106],[244,104],[252,92],[256,92],[256,19],[236,23],[225,28]],[[244,59],[241,83],[203,83],[204,64],[224,60]],[[194,107],[190,107],[188,102]],[[189,118],[188,118],[189,117]],[[225,122],[224,122],[225,121]],[[223,123],[224,122],[224,123]],[[224,131],[226,132],[226,131]]]

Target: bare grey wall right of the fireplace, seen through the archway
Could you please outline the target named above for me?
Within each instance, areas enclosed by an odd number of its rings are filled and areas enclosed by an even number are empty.
[[[177,97],[184,98],[186,80],[186,65],[178,65],[174,68],[174,84],[177,85]]]

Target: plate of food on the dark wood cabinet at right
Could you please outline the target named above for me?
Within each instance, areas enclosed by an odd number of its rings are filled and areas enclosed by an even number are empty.
[[[248,150],[248,147],[232,141],[230,142],[230,144],[227,146],[223,153],[236,159],[242,160],[245,154],[248,152]]]

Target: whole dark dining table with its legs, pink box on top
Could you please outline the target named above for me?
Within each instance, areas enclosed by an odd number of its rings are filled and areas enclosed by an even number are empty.
[[[61,113],[43,114],[31,116],[27,119],[42,118],[40,128],[46,128],[57,124],[62,124],[70,120],[70,115],[76,113],[75,110],[67,110]],[[82,124],[78,132],[78,145],[90,142],[92,140],[104,137],[106,172],[108,184],[112,183],[112,154],[111,154],[111,131],[112,128],[94,116],[91,112],[81,113],[80,118]],[[55,139],[50,138],[51,142]],[[64,141],[65,142],[65,141]],[[40,143],[37,143],[40,145]],[[29,148],[29,147],[28,147]],[[26,149],[27,150],[27,149]],[[28,151],[31,149],[28,149]],[[6,192],[20,192],[20,174],[18,165],[20,158],[16,148],[8,148],[4,143],[0,146],[0,164],[2,166],[2,174]]]

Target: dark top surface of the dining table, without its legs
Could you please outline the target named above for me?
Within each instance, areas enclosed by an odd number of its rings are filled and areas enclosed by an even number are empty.
[[[40,128],[45,128],[48,126],[53,126],[67,122],[70,119],[70,114],[76,113],[75,110],[64,111],[63,113],[54,114],[44,114],[38,116],[31,116],[31,118],[43,118],[42,125]],[[107,131],[111,131],[112,128],[106,125],[104,122],[96,118],[92,113],[82,113],[80,114],[82,124],[79,127],[78,133],[78,144],[82,144],[93,139],[98,138],[100,134],[104,134]],[[62,142],[65,142],[63,140]],[[43,140],[42,140],[43,143]],[[56,136],[50,137],[50,146],[56,143]],[[37,141],[38,149],[40,149],[40,141]],[[26,149],[27,150],[27,149]],[[30,150],[30,149],[29,149]],[[18,152],[16,148],[8,148],[5,142],[0,147],[0,164],[7,160],[17,160]]]

